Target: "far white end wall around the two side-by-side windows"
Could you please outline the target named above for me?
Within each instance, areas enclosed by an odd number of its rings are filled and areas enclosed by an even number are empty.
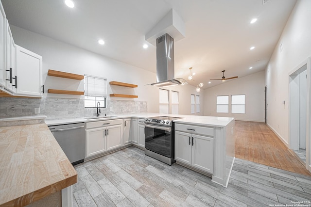
[[[206,116],[227,116],[236,120],[264,122],[264,71],[207,88]],[[229,96],[229,113],[217,113],[217,96]],[[245,114],[231,113],[231,95],[245,95]]]

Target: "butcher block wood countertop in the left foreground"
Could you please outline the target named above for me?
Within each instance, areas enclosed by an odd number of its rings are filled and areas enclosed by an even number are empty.
[[[76,182],[46,124],[0,127],[0,207],[25,206]]]

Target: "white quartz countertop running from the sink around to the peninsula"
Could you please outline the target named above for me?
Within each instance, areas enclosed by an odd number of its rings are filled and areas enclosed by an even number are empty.
[[[122,115],[109,115],[114,117],[99,116],[96,119],[86,119],[83,117],[69,118],[69,119],[48,119],[45,123],[48,126],[52,125],[62,125],[69,123],[79,123],[79,122],[94,122],[102,120],[112,120],[112,119],[124,119],[124,118],[150,118],[155,116],[171,116],[180,119],[174,120],[178,124],[190,124],[190,125],[201,125],[201,126],[211,126],[211,127],[225,127],[234,118],[232,117],[216,117],[216,116],[194,116],[194,115],[182,115],[182,114],[160,114],[160,113],[135,113],[135,114],[122,114]]]

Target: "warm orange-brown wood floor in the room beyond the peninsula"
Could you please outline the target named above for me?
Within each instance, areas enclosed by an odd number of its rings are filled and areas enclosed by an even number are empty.
[[[311,175],[276,134],[261,122],[235,121],[235,157]]]

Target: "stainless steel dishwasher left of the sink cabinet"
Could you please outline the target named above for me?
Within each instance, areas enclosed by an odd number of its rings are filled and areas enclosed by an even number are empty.
[[[49,126],[72,165],[84,162],[86,155],[85,123]]]

